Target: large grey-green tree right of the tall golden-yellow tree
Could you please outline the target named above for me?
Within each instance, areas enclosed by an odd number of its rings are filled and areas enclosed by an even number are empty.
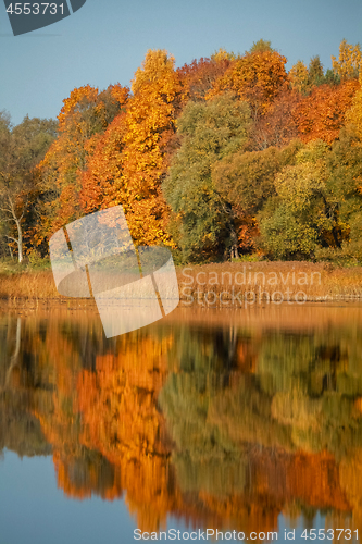
[[[242,148],[249,124],[248,106],[229,94],[189,102],[178,119],[182,147],[163,190],[186,261],[221,258],[237,246],[232,208],[213,184],[212,168]]]

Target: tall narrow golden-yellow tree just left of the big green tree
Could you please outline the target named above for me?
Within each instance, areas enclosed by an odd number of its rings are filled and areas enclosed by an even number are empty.
[[[166,234],[168,209],[161,181],[183,99],[173,57],[164,50],[149,50],[135,74],[132,91],[124,121],[122,176],[113,184],[109,202],[124,206],[137,244],[172,245]]]

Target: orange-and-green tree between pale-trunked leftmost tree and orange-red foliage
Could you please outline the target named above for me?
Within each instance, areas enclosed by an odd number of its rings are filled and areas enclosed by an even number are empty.
[[[126,99],[127,89],[120,85],[110,86],[102,92],[86,85],[74,89],[63,100],[58,116],[58,138],[39,165],[42,195],[38,206],[41,221],[35,234],[37,244],[82,213],[82,172],[99,135],[124,107]]]

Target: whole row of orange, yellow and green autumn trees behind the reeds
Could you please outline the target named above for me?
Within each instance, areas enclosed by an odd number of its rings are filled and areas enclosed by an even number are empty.
[[[57,127],[2,113],[2,254],[45,257],[58,228],[122,205],[135,243],[178,262],[359,263],[361,48],[344,40],[327,71],[286,62],[264,40],[180,69],[150,50],[130,89],[74,89]]]

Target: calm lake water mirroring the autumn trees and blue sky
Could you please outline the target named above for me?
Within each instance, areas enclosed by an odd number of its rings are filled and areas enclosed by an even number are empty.
[[[0,543],[135,529],[361,536],[362,306],[179,309],[111,339],[92,311],[2,313]]]

